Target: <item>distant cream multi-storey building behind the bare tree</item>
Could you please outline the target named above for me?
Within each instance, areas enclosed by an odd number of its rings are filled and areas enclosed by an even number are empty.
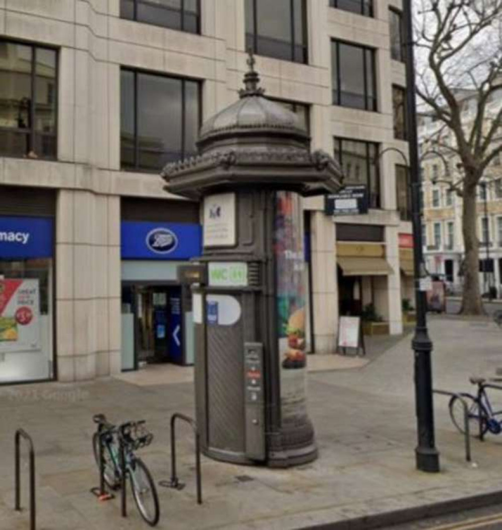
[[[475,94],[462,94],[462,119],[466,128],[472,126],[477,108]],[[490,97],[486,111],[486,127],[502,105],[501,88]],[[441,131],[441,133],[440,133]],[[441,136],[441,142],[431,139]],[[424,204],[424,256],[429,272],[444,275],[448,289],[460,294],[463,285],[464,244],[462,236],[462,197],[451,184],[462,179],[459,158],[448,147],[455,138],[444,131],[442,124],[430,114],[419,117],[419,142],[422,153],[422,199]],[[502,142],[500,136],[495,145]],[[487,167],[477,188],[477,235],[479,240],[479,275],[481,292],[502,296],[502,161],[497,156]]]

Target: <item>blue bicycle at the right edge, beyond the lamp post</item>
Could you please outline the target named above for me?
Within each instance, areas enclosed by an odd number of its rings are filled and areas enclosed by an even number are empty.
[[[486,388],[496,388],[502,390],[501,386],[490,384],[490,382],[500,382],[502,379],[470,377],[469,381],[473,385],[478,385],[478,392],[476,396],[466,392],[460,393],[460,396],[468,405],[469,432],[472,436],[475,436],[475,433],[478,432],[481,439],[487,431],[490,431],[492,434],[500,434],[500,432],[502,432],[502,420],[499,421],[496,417],[502,415],[502,410],[494,410],[492,408]],[[465,434],[464,407],[457,396],[454,396],[450,400],[448,408],[450,409],[450,417],[453,421],[453,425],[460,432],[462,432],[462,434]]]

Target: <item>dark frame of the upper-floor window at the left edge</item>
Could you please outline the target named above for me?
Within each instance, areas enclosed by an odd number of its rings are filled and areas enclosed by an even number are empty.
[[[32,49],[32,57],[31,57],[31,71],[30,71],[30,82],[31,82],[31,90],[30,90],[30,120],[31,120],[31,127],[22,129],[19,127],[3,127],[0,126],[0,131],[5,133],[17,133],[17,134],[24,134],[26,137],[29,138],[31,149],[28,153],[26,153],[24,156],[19,156],[15,154],[9,154],[9,153],[2,153],[0,152],[0,157],[6,157],[6,158],[29,158],[29,160],[49,160],[49,161],[55,161],[58,160],[58,139],[59,139],[59,50],[57,46],[47,46],[45,44],[39,44],[36,42],[27,42],[19,39],[11,39],[8,37],[0,36],[0,42],[6,42],[11,43],[13,45],[20,45],[20,46],[27,46]],[[55,98],[54,98],[54,109],[55,109],[55,117],[54,117],[54,134],[50,133],[43,133],[40,131],[37,131],[35,129],[35,109],[36,109],[36,101],[35,101],[35,94],[37,90],[37,73],[36,73],[36,65],[37,65],[37,48],[45,49],[54,51],[56,54],[56,68],[55,68]],[[7,70],[10,72],[11,70]],[[54,138],[54,156],[40,156],[38,153],[35,153],[37,157],[28,157],[28,154],[33,151],[33,147],[35,145],[35,138],[36,136],[39,137],[53,137]]]

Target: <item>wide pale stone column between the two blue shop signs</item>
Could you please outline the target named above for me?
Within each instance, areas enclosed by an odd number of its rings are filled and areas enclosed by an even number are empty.
[[[61,190],[56,213],[58,379],[120,370],[120,199]]]

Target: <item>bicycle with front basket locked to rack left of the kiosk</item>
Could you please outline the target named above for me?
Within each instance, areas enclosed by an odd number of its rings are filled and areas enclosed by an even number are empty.
[[[150,526],[155,526],[160,518],[158,495],[155,482],[144,462],[135,451],[152,443],[153,434],[148,432],[145,421],[128,421],[118,427],[110,423],[104,414],[96,414],[93,421],[98,429],[92,437],[92,448],[98,469],[101,470],[100,443],[104,466],[104,481],[112,490],[120,489],[122,473],[129,476],[134,501],[140,515]],[[121,448],[124,448],[125,470],[122,469]]]

